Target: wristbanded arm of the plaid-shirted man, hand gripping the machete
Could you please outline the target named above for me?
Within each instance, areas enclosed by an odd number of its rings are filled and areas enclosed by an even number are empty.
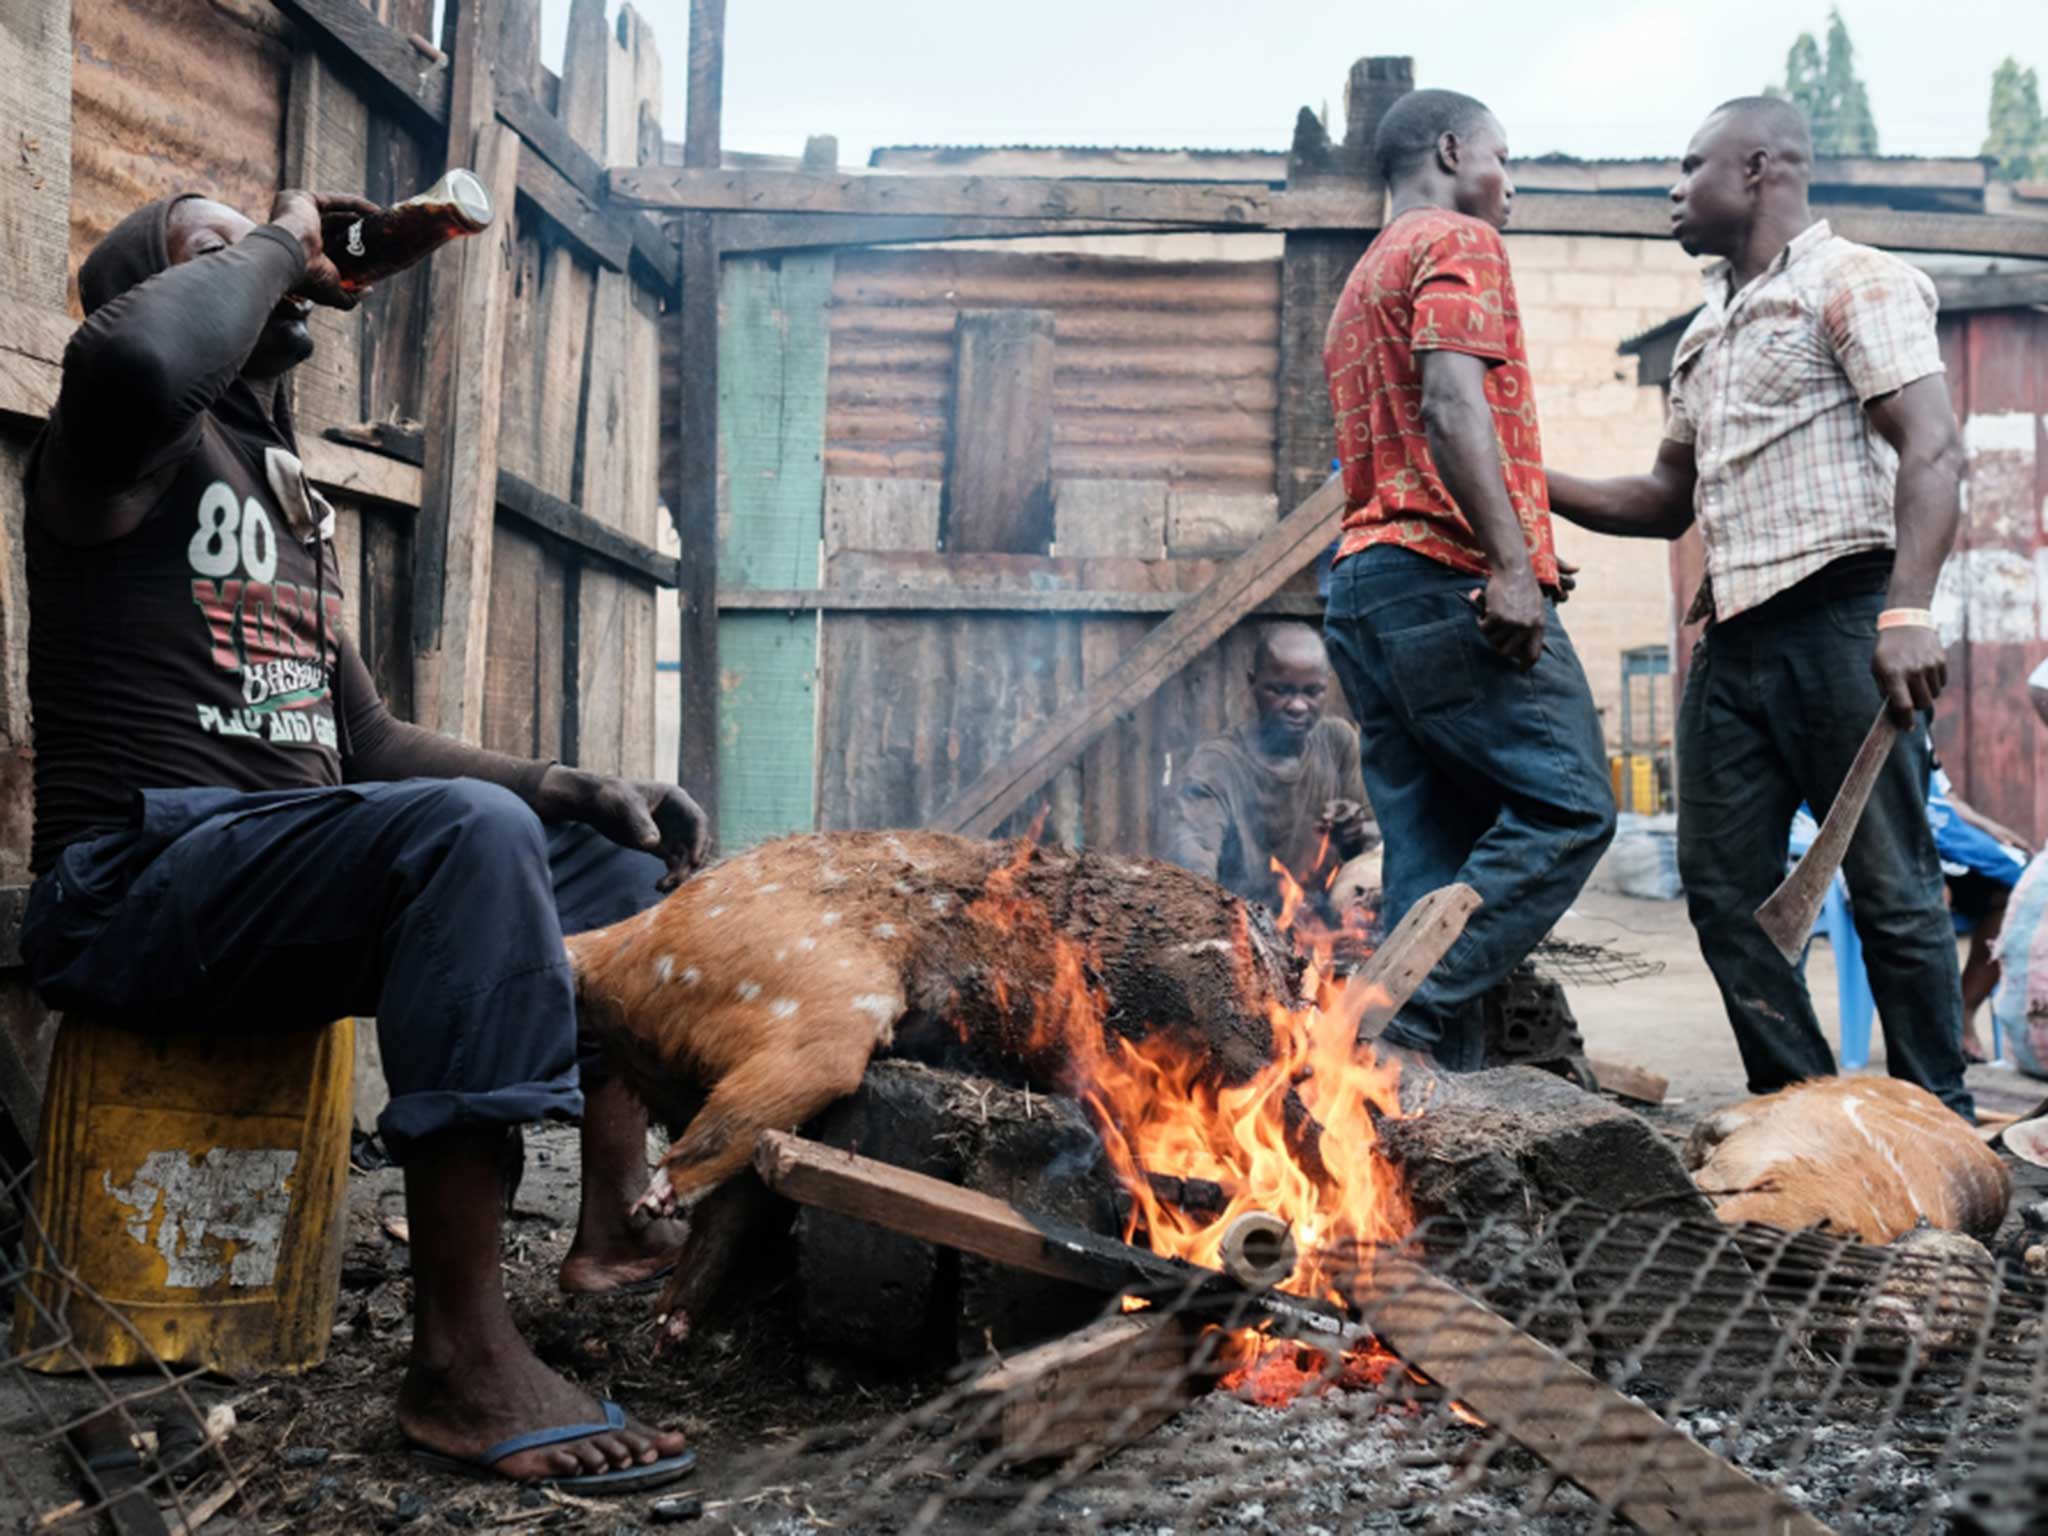
[[[1884,606],[1927,608],[1933,604],[1942,561],[1956,543],[1962,512],[1962,438],[1948,399],[1948,379],[1929,373],[1868,401],[1864,410],[1878,436],[1898,451],[1898,485],[1892,496],[1898,553]],[[1942,635],[1925,625],[1880,631],[1870,672],[1890,705],[1892,723],[1901,731],[1911,727],[1915,711],[1933,709],[1948,686]]]

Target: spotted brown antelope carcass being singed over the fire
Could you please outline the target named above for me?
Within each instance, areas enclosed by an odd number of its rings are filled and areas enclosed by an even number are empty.
[[[569,956],[618,1071],[684,1124],[645,1214],[700,1200],[879,1051],[1059,1090],[1077,1022],[1171,1030],[1235,1083],[1272,1055],[1272,1010],[1303,1006],[1266,911],[1188,870],[938,831],[764,844]]]

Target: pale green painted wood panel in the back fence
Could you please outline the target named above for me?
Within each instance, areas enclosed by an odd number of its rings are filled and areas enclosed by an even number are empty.
[[[719,285],[721,588],[815,588],[829,252],[745,256]],[[817,614],[719,618],[719,846],[815,825]]]

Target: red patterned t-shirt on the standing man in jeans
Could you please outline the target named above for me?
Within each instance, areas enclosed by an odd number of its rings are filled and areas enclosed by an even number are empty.
[[[1409,209],[1380,229],[1352,268],[1323,336],[1350,502],[1337,559],[1370,545],[1401,545],[1487,575],[1473,524],[1430,461],[1417,352],[1470,352],[1491,365],[1487,403],[1507,498],[1522,518],[1536,580],[1554,588],[1550,487],[1507,250],[1491,223],[1450,209]]]

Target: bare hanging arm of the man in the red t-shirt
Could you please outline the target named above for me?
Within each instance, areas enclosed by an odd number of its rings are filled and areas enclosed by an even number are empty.
[[[1542,655],[1542,588],[1530,567],[1522,518],[1507,500],[1493,406],[1487,403],[1489,365],[1470,352],[1427,350],[1415,356],[1421,362],[1421,424],[1430,461],[1487,553],[1491,575],[1479,627],[1487,645],[1528,672]]]

